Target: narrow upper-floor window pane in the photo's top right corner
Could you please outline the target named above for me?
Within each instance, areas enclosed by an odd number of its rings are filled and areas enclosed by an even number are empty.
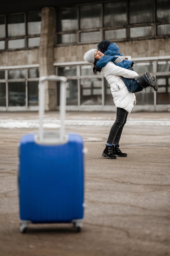
[[[170,0],[157,0],[157,21],[170,20]]]

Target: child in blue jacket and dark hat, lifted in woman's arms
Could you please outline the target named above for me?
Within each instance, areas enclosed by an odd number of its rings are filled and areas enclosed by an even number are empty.
[[[132,66],[134,63],[125,59],[125,57],[120,54],[119,47],[116,43],[111,43],[109,40],[103,40],[97,45],[97,49],[105,55],[96,62],[95,69],[93,69],[94,72],[100,72],[102,67],[106,66],[109,61],[112,61],[119,67],[133,70]],[[155,91],[158,90],[155,77],[151,76],[148,72],[138,76],[137,79],[128,79],[125,77],[122,77],[122,79],[129,92],[140,92],[148,86],[153,87]]]

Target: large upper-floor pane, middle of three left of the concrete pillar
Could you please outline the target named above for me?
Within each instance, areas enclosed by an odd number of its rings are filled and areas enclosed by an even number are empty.
[[[24,36],[24,13],[7,16],[8,36]]]

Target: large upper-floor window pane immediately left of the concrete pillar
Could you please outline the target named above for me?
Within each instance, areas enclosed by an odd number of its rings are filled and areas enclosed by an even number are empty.
[[[40,34],[41,12],[27,13],[27,29],[29,35]]]

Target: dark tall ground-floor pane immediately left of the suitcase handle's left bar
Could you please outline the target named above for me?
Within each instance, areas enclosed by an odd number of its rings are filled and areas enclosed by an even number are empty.
[[[38,106],[38,81],[28,82],[28,106]]]

